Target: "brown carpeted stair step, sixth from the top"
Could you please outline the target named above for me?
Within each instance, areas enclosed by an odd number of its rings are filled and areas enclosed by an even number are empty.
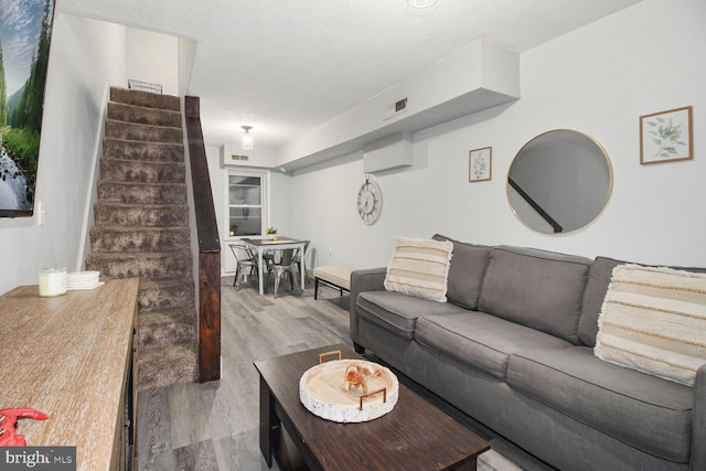
[[[98,181],[98,200],[124,204],[186,204],[185,183]]]

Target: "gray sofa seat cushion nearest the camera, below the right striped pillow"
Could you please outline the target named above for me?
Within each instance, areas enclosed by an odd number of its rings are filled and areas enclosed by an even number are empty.
[[[602,362],[586,346],[517,352],[517,392],[660,458],[688,462],[693,389]]]

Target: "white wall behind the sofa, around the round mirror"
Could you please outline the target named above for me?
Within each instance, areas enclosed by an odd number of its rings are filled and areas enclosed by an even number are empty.
[[[415,165],[377,176],[383,212],[355,212],[362,154],[295,173],[293,232],[311,238],[318,265],[383,266],[396,236],[442,233],[639,263],[706,266],[706,3],[645,0],[521,55],[522,97],[414,136]],[[639,117],[694,107],[691,161],[640,165]],[[517,150],[549,129],[598,139],[614,171],[607,207],[578,232],[535,233],[512,213],[505,176]],[[468,152],[493,147],[493,179],[468,182]],[[331,254],[331,255],[329,255]]]

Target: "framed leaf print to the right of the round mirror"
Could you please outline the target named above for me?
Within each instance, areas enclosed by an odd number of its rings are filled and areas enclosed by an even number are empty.
[[[691,106],[640,117],[640,164],[693,158]]]

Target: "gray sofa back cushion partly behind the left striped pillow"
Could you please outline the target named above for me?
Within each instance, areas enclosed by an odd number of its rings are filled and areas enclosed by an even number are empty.
[[[448,291],[449,302],[461,308],[478,309],[478,297],[490,261],[492,247],[466,244],[452,238],[435,234],[435,240],[450,240],[453,243],[453,256],[449,268]]]

